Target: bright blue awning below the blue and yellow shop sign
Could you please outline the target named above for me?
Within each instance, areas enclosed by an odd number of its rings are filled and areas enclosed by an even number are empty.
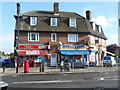
[[[88,55],[88,50],[60,50],[61,54],[64,55]]]

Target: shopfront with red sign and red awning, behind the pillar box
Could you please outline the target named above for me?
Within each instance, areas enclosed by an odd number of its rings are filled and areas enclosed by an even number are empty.
[[[48,60],[48,45],[19,44],[18,49],[19,65],[21,67],[24,60],[29,60],[31,67],[35,66],[36,62],[47,62]]]

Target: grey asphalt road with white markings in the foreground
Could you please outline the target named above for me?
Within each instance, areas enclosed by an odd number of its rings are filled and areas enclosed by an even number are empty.
[[[118,88],[119,78],[118,72],[101,72],[13,75],[3,76],[3,81],[9,84],[9,88]]]

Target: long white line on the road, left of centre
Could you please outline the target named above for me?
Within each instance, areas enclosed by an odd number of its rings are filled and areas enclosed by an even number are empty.
[[[63,83],[63,82],[71,82],[71,80],[61,81],[61,80],[55,80],[55,81],[26,81],[26,82],[13,82],[15,84],[19,83]]]

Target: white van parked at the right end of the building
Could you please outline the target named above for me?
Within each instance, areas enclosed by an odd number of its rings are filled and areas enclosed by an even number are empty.
[[[115,66],[116,65],[116,61],[115,58],[112,56],[105,56],[103,58],[103,66]]]

